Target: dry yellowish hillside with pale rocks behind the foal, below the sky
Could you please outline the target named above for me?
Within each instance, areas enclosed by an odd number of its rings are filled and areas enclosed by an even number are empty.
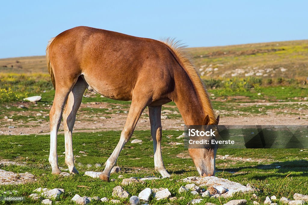
[[[308,40],[188,50],[202,78],[308,77]],[[0,59],[0,72],[47,73],[45,56]]]

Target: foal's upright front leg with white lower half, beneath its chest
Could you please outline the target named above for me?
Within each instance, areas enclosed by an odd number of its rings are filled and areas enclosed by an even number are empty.
[[[148,106],[149,118],[151,123],[151,135],[154,148],[154,166],[163,177],[170,177],[164,166],[163,157],[161,155],[161,106]]]

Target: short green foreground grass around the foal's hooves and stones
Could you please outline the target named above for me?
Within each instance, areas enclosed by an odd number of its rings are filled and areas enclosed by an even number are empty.
[[[172,196],[184,196],[184,200],[176,200],[170,202],[168,200],[156,201],[152,199],[150,204],[187,204],[191,199],[200,198],[199,196],[188,194],[179,194],[177,191],[181,182],[188,176],[197,176],[198,173],[193,165],[191,158],[179,158],[178,154],[187,155],[187,149],[184,145],[170,146],[170,142],[182,142],[182,139],[176,139],[181,131],[163,131],[162,153],[165,166],[172,177],[169,179],[160,179],[148,181],[145,184],[131,184],[122,186],[129,191],[131,195],[138,195],[141,190],[146,187],[150,188],[168,188]],[[104,131],[96,133],[74,133],[73,149],[75,155],[80,155],[79,151],[86,151],[87,156],[76,158],[76,163],[83,165],[100,163],[103,164],[113,149],[115,148],[120,131]],[[167,138],[171,137],[171,138]],[[1,169],[13,171],[15,173],[31,172],[35,175],[37,181],[23,185],[5,185],[0,190],[17,190],[17,195],[29,196],[32,191],[38,187],[47,188],[63,188],[65,193],[60,196],[61,204],[72,204],[70,199],[75,195],[86,195],[89,197],[112,197],[112,188],[120,185],[122,179],[118,179],[119,175],[124,178],[144,177],[146,175],[157,175],[154,171],[153,150],[150,131],[135,131],[132,139],[142,139],[143,144],[125,145],[118,159],[117,165],[122,168],[120,173],[111,174],[111,179],[115,182],[103,182],[99,179],[93,179],[83,176],[84,171],[102,171],[103,167],[91,168],[78,167],[79,175],[70,177],[59,177],[51,175],[51,168],[48,163],[49,154],[49,136],[48,135],[28,135],[28,136],[0,136],[0,156],[2,159],[8,159],[16,162],[26,162],[26,166],[1,166]],[[16,143],[16,144],[13,144]],[[18,146],[22,145],[22,146]],[[58,155],[64,155],[64,137],[58,137]],[[261,190],[258,193],[258,202],[263,202],[266,196],[276,195],[279,199],[281,196],[292,199],[294,193],[308,194],[308,162],[307,150],[299,149],[218,149],[217,155],[230,155],[230,157],[242,157],[261,159],[257,160],[241,160],[217,159],[217,177],[222,177],[235,182],[246,185],[247,183]],[[64,156],[59,157],[59,166],[67,168],[64,163]],[[280,169],[276,168],[281,166]],[[77,185],[91,187],[90,189],[79,188]],[[206,188],[206,187],[205,187]],[[247,199],[251,204],[253,199],[251,194],[238,194],[229,199],[209,199],[205,198],[201,204],[212,202],[216,204],[226,203],[230,199]],[[27,203],[38,203],[26,199]],[[56,201],[56,200],[55,200]],[[128,199],[121,199],[122,203],[128,204]],[[101,202],[99,202],[101,203]],[[18,203],[14,203],[18,204]],[[19,204],[22,204],[19,203]],[[95,204],[95,203],[94,203]]]

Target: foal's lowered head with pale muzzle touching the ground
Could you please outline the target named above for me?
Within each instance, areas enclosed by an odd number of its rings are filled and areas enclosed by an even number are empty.
[[[219,122],[219,116],[217,117],[217,124]],[[209,131],[210,129],[215,129],[215,126],[212,126],[210,123],[209,116],[207,115],[203,120],[204,131]],[[207,126],[211,125],[211,126]],[[218,132],[216,132],[218,134]],[[200,137],[198,140],[202,139],[215,139],[215,137]],[[193,146],[192,146],[193,147]],[[200,148],[199,148],[200,147]],[[197,171],[201,177],[204,176],[214,176],[215,175],[215,157],[216,157],[217,146],[211,144],[199,145],[197,148],[189,148],[188,152],[193,158],[193,162],[196,165]]]

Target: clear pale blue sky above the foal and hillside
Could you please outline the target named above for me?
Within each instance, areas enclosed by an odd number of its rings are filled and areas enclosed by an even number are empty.
[[[1,1],[0,58],[44,55],[75,26],[139,37],[176,37],[189,47],[308,39],[308,1]]]

